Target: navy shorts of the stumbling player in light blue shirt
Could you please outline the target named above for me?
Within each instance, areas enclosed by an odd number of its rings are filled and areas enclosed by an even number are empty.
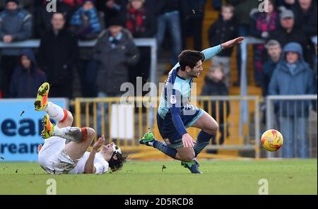
[[[204,112],[201,109],[196,108],[195,114],[181,115],[180,117],[187,129],[192,126],[203,114]],[[183,146],[182,136],[175,129],[175,124],[173,124],[171,115],[167,115],[165,119],[163,119],[159,114],[157,114],[157,124],[161,137],[165,140],[168,140],[166,143],[170,145],[170,147],[181,148]]]

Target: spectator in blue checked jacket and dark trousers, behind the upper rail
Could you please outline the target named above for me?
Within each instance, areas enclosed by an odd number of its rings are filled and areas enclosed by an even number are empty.
[[[79,40],[94,40],[102,31],[102,25],[98,18],[95,1],[83,0],[83,6],[73,14],[70,22],[70,30]],[[77,65],[78,76],[81,82],[82,97],[96,97],[96,76],[98,64],[92,58],[92,49],[80,49],[80,61]]]

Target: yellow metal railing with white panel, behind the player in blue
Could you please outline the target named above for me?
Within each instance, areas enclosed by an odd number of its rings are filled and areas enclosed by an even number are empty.
[[[155,138],[162,140],[158,131],[155,114],[150,120],[150,108],[142,106],[135,107],[138,102],[151,102],[150,97],[129,97],[122,104],[121,97],[105,98],[76,98],[71,105],[75,107],[75,125],[90,126],[97,130],[101,127],[100,135],[107,138],[107,142],[121,145],[123,150],[141,151],[148,149],[138,143],[138,139],[143,133],[148,131],[148,127],[154,124],[152,131]],[[158,104],[159,98],[156,98]],[[245,101],[249,105],[249,113],[253,117],[248,117],[248,124],[244,127],[243,135],[240,135],[240,102]],[[153,102],[153,101],[152,101]],[[105,104],[107,104],[105,106]],[[213,96],[196,97],[198,107],[205,109],[219,123],[219,131],[215,141],[211,141],[207,150],[249,150],[254,151],[254,157],[260,157],[259,149],[259,97],[257,96]],[[106,107],[100,109],[98,107]],[[154,112],[158,111],[158,106],[153,107]],[[228,112],[228,114],[227,114]],[[101,117],[98,117],[98,114]],[[189,128],[189,133],[193,138],[199,133],[199,129]],[[99,132],[99,131],[97,131]],[[155,150],[153,150],[155,151]],[[146,155],[145,155],[146,156]]]

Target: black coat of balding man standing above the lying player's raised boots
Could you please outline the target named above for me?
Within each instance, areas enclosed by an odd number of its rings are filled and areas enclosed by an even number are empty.
[[[61,30],[58,35],[54,35],[51,30],[42,37],[38,61],[50,83],[65,85],[71,80],[78,54],[78,41],[71,32]]]

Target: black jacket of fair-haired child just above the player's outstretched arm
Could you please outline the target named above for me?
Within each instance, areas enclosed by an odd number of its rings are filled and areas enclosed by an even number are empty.
[[[211,47],[232,40],[236,36],[237,26],[235,22],[233,20],[224,21],[222,17],[219,17],[208,29],[208,41]],[[224,50],[218,56],[231,56],[232,50],[232,48]]]

